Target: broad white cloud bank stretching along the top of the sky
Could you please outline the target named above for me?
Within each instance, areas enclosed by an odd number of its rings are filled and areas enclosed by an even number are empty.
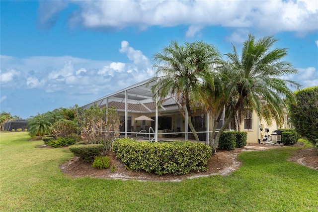
[[[128,26],[189,25],[187,36],[204,26],[255,27],[273,34],[292,31],[304,34],[318,29],[316,0],[120,0],[77,1],[79,8],[69,18],[72,26],[121,30]],[[39,24],[52,26],[67,7],[65,1],[43,1]]]

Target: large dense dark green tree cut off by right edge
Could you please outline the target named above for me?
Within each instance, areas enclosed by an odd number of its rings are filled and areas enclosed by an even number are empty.
[[[318,86],[295,92],[296,101],[289,103],[291,122],[296,131],[313,144],[318,139]]]

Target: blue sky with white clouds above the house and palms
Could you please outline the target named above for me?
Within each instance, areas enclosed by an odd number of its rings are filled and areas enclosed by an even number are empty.
[[[0,110],[28,118],[85,105],[154,76],[171,40],[222,54],[248,33],[288,48],[304,88],[318,85],[318,1],[0,1]]]

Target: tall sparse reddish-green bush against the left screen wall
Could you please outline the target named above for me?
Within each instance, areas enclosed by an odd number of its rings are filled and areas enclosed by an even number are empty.
[[[115,138],[114,131],[118,130],[120,117],[114,107],[98,107],[79,109],[78,123],[81,136],[90,144],[103,144],[105,150],[111,149]]]

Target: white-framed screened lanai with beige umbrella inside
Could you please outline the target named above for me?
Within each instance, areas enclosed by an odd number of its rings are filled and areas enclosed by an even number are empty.
[[[121,116],[122,125],[119,131],[124,137],[149,138],[158,141],[169,137],[193,139],[188,130],[188,116],[183,115],[175,98],[168,96],[160,106],[156,106],[156,98],[151,91],[149,80],[129,86],[100,99],[97,99],[83,108],[92,105],[115,107]],[[151,120],[136,120],[146,115]],[[208,141],[209,117],[199,111],[192,118],[192,123],[199,132],[200,140]],[[200,133],[201,132],[201,133]]]

